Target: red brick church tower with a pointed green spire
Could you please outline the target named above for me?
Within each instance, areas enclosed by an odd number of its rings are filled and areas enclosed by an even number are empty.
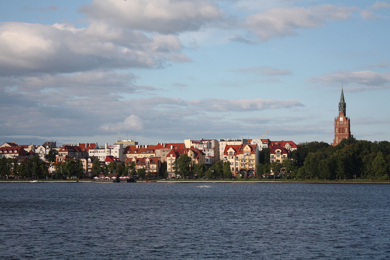
[[[339,102],[339,116],[335,118],[335,139],[333,139],[333,146],[336,146],[342,139],[351,137],[351,123],[346,116],[346,103],[344,100],[344,91],[341,89],[341,96]]]

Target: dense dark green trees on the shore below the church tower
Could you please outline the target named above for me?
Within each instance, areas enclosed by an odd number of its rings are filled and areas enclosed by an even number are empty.
[[[390,142],[344,139],[337,146],[325,142],[303,142],[292,152],[292,160],[269,164],[274,173],[286,178],[370,179],[388,178]],[[268,171],[268,163],[257,166],[257,173]],[[269,171],[268,171],[269,172]],[[387,175],[387,176],[386,176]]]

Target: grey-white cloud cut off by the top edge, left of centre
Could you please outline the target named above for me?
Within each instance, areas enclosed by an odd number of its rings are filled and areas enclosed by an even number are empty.
[[[91,20],[163,34],[199,30],[222,17],[218,6],[206,0],[93,0],[79,11]]]

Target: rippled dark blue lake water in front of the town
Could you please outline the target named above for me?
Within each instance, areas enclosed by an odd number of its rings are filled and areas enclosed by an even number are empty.
[[[390,185],[0,183],[0,259],[389,259]]]

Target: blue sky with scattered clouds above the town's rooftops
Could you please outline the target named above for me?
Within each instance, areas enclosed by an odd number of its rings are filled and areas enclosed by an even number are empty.
[[[0,142],[390,141],[390,1],[0,7]]]

